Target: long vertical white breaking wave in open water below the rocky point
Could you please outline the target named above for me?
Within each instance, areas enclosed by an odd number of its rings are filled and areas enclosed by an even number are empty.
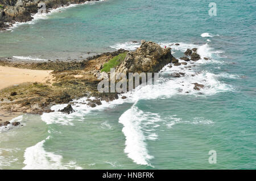
[[[150,159],[154,158],[148,153],[146,140],[156,140],[158,135],[152,131],[152,125],[160,121],[157,114],[143,112],[135,104],[119,117],[119,123],[123,124],[122,132],[125,134],[125,153],[135,163],[150,165]],[[151,128],[151,130],[148,130]]]

